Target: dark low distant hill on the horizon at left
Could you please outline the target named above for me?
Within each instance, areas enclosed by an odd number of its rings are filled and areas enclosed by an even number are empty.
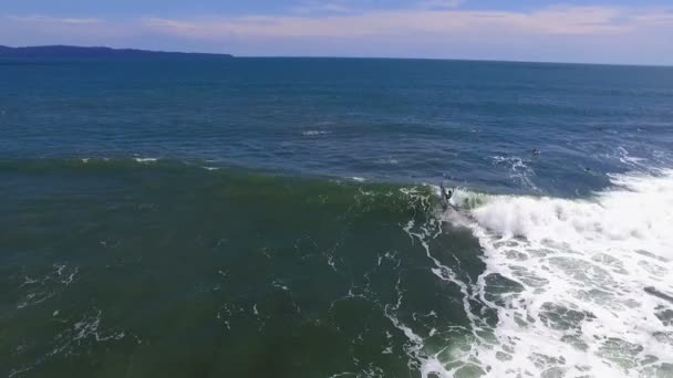
[[[221,56],[229,54],[182,53],[136,49],[82,48],[68,45],[9,48],[0,45],[0,57],[161,57]]]

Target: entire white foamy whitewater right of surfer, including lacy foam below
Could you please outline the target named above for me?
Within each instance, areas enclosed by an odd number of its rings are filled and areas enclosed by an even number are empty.
[[[476,290],[498,313],[497,344],[479,345],[489,376],[673,375],[673,171],[612,182],[588,200],[496,196],[469,210],[487,264]],[[495,298],[494,274],[511,280]]]

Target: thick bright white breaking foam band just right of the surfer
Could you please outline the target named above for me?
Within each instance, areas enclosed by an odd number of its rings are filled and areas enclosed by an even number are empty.
[[[493,197],[472,214],[506,238],[557,240],[579,250],[648,250],[673,259],[673,171],[613,176],[612,182],[618,189],[589,200]]]

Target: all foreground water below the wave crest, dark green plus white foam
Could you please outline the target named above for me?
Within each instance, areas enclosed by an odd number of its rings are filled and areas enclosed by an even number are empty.
[[[587,199],[459,189],[457,211],[434,187],[161,159],[0,177],[8,376],[673,372],[671,171]]]

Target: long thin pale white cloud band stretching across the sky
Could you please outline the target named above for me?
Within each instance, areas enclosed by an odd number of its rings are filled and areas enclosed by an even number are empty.
[[[644,17],[644,14],[641,14]],[[519,33],[617,34],[639,22],[628,10],[609,7],[549,8],[532,12],[472,10],[387,10],[344,15],[204,17],[186,20],[146,19],[163,33],[209,39],[222,35],[332,36]]]

